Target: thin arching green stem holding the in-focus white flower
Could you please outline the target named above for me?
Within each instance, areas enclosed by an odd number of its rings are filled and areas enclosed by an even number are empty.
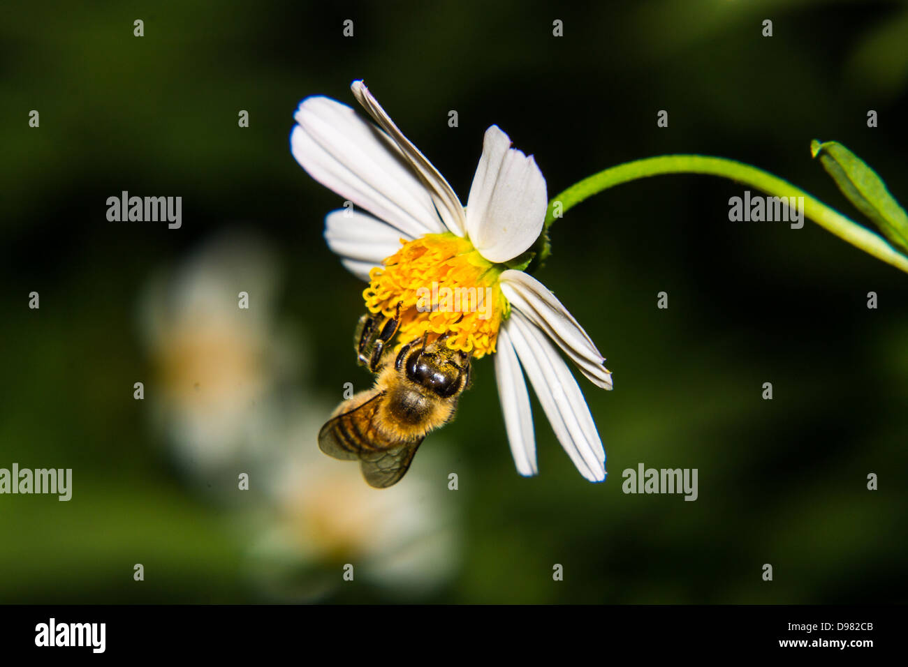
[[[724,176],[776,197],[804,197],[805,218],[809,218],[827,231],[833,232],[840,239],[870,253],[876,259],[883,260],[908,273],[908,257],[895,250],[883,240],[883,237],[849,220],[838,211],[826,206],[822,201],[795,188],[788,181],[743,162],[706,155],[660,155],[655,158],[625,162],[593,174],[570,186],[568,190],[561,192],[548,202],[545,229],[548,230],[548,227],[556,220],[554,212],[559,201],[561,202],[561,213],[564,213],[587,197],[612,186],[666,173],[705,173],[712,176]],[[548,254],[548,244],[546,244],[540,251],[538,260],[545,260]]]

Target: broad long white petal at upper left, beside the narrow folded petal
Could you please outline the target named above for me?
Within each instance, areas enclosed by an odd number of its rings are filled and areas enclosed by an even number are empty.
[[[445,231],[388,135],[328,97],[307,97],[293,117],[291,152],[313,179],[410,236]]]

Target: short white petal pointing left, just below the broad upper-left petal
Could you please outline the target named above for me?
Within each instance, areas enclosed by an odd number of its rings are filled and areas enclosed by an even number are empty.
[[[401,239],[411,240],[386,222],[365,213],[340,209],[325,216],[328,247],[345,260],[380,266],[381,260],[400,250]]]

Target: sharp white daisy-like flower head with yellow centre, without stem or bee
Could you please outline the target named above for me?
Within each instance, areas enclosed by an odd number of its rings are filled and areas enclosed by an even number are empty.
[[[556,346],[593,384],[611,389],[605,358],[551,291],[505,265],[543,228],[548,195],[536,162],[492,125],[464,207],[369,89],[361,81],[350,87],[380,127],[346,104],[313,96],[294,114],[290,139],[293,157],[312,178],[371,213],[341,209],[325,219],[331,250],[370,282],[363,292],[367,308],[392,316],[402,302],[400,343],[447,331],[449,347],[473,358],[498,353],[498,393],[520,475],[538,473],[526,372],[577,470],[603,481],[606,455],[596,425]],[[433,302],[429,311],[418,308],[433,285],[483,289],[492,306],[464,312]]]

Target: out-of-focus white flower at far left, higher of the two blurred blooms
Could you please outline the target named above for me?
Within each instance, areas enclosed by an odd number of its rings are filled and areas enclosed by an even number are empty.
[[[217,469],[261,449],[256,435],[275,409],[275,388],[300,365],[273,318],[276,266],[262,241],[228,236],[146,291],[141,333],[153,378],[145,399],[177,456],[194,469]],[[241,292],[248,309],[239,306]]]

